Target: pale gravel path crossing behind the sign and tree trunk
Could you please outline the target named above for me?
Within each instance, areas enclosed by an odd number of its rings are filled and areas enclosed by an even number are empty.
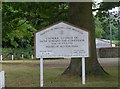
[[[98,61],[101,65],[118,65],[118,61],[120,61],[120,58],[98,58]],[[3,63],[39,63],[39,60],[7,60],[3,61]],[[70,63],[70,60],[44,60],[44,65],[45,66],[68,66]]]

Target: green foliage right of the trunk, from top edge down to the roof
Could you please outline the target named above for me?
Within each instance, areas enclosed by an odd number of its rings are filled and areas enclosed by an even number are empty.
[[[104,38],[104,39],[110,39],[110,28],[111,28],[112,39],[119,40],[119,36],[118,36],[118,32],[119,32],[118,14],[119,14],[119,12],[115,12],[115,11],[112,13],[109,12],[109,10],[111,10],[112,8],[114,8],[116,6],[120,6],[120,3],[118,3],[118,2],[102,2],[102,3],[100,3],[100,7],[95,16],[95,18],[96,18],[95,21],[96,20],[100,21],[99,25],[101,26],[101,29],[103,30],[102,38]],[[101,38],[101,35],[98,36],[101,33],[101,30],[99,29],[99,26],[97,26],[97,28],[98,28],[98,30],[96,30],[97,37]]]

